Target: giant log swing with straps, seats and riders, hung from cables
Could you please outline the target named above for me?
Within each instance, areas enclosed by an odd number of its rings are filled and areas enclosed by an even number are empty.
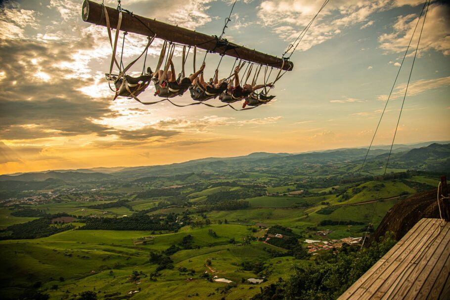
[[[291,71],[293,69],[293,64],[292,62],[290,62],[289,58],[297,48],[298,44],[301,41],[301,38],[303,38],[303,36],[306,34],[306,31],[310,28],[315,17],[323,9],[328,0],[325,0],[325,3],[320,8],[319,12],[317,12],[313,20],[303,30],[299,38],[297,38],[293,44],[289,45],[288,49],[284,52],[282,58],[273,57],[268,54],[263,54],[255,50],[244,48],[243,46],[239,46],[231,42],[228,42],[225,38],[223,38],[225,34],[225,28],[227,28],[227,23],[230,21],[231,13],[236,1],[234,2],[233,7],[231,8],[229,17],[225,19],[225,26],[222,31],[222,34],[220,35],[220,37],[213,36],[213,38],[203,35],[201,33],[192,32],[187,29],[180,28],[178,26],[172,26],[169,24],[158,22],[156,20],[139,17],[133,14],[133,12],[123,9],[121,7],[120,2],[121,1],[118,0],[117,9],[106,7],[105,5],[103,5],[103,3],[97,4],[90,0],[85,0],[83,3],[83,20],[97,25],[106,26],[108,29],[108,37],[112,48],[112,58],[110,70],[109,73],[106,74],[106,79],[109,81],[109,83],[111,82],[114,83],[115,87],[114,89],[110,85],[110,89],[115,92],[114,100],[117,97],[121,96],[133,98],[136,101],[145,105],[151,105],[160,103],[162,101],[168,101],[174,106],[178,107],[204,104],[207,105],[208,107],[216,107],[216,108],[228,106],[237,111],[238,109],[232,107],[230,105],[231,103],[245,100],[242,109],[239,110],[248,110],[256,108],[262,104],[266,104],[270,102],[273,98],[275,98],[275,96],[268,95],[267,87],[272,88],[273,83],[278,81],[281,78],[281,76],[283,76],[286,72]],[[112,19],[110,16],[112,16]],[[111,20],[113,22],[111,22]],[[122,42],[122,52],[119,63],[118,60],[116,59],[116,49],[121,27],[124,30],[124,37]],[[114,41],[111,35],[112,28],[116,29]],[[148,42],[142,53],[129,65],[124,67],[122,60],[123,50],[125,44],[125,36],[127,35],[128,32],[146,35],[148,36]],[[151,33],[151,35],[149,33]],[[148,47],[157,37],[157,34],[158,38],[164,40],[164,43],[161,49],[161,53],[159,56],[155,72],[152,72],[151,68],[145,69],[145,62]],[[195,43],[192,43],[192,41],[195,41]],[[296,42],[297,44],[294,46]],[[181,59],[182,71],[179,74],[178,78],[175,78],[174,74],[175,69],[173,67],[172,58],[174,56],[175,47],[177,45],[183,47]],[[187,56],[189,54],[189,50],[192,46],[194,47],[194,54],[193,54],[194,74],[189,77],[185,77],[184,66],[187,60]],[[201,84],[199,83],[200,76],[198,75],[200,74],[200,71],[197,72],[195,71],[195,57],[197,47],[206,50],[203,63],[205,62],[208,53],[217,53],[216,51],[218,51],[221,55],[221,59],[216,68],[216,73],[213,80],[214,82],[211,82],[210,84],[203,84],[205,83],[203,80],[203,74],[201,74],[202,83]],[[291,51],[290,55],[286,57],[286,54],[291,49],[293,50]],[[136,63],[137,60],[139,60],[142,57],[142,55],[144,55],[144,53],[145,53],[144,66],[142,68],[141,75],[137,77],[127,75],[126,72],[129,71],[129,69]],[[232,68],[230,75],[227,78],[224,78],[219,81],[218,80],[219,66],[225,55],[233,56],[236,58],[233,64],[233,68],[239,59],[238,69],[233,73]],[[163,66],[164,58],[166,58],[164,69],[160,70],[160,68]],[[241,84],[241,82],[239,81],[239,73],[246,64],[247,68],[242,74],[242,82],[244,82],[244,84]],[[117,75],[112,74],[114,65],[119,70],[119,74]],[[265,67],[264,84],[256,85],[263,66]],[[268,74],[269,67],[270,72]],[[171,68],[170,73],[169,68]],[[278,75],[276,75],[276,77],[274,78],[274,81],[268,84],[267,82],[269,81],[270,74],[273,68],[279,69],[279,72]],[[282,73],[283,70],[284,72]],[[250,76],[252,75],[252,72],[254,72],[253,79],[251,80],[251,83],[247,84],[247,82],[250,79]],[[168,75],[170,75],[170,78]],[[234,87],[231,84],[233,80],[235,85]],[[156,89],[155,96],[162,97],[164,99],[154,102],[142,102],[137,98],[137,96],[148,87],[151,81],[153,81],[155,84]],[[242,85],[242,87],[238,87],[239,85]],[[264,90],[260,92],[256,91],[257,89],[261,89],[263,87]],[[169,98],[174,98],[176,96],[183,95],[188,89],[191,98],[195,101],[194,103],[186,105],[178,105],[169,100]],[[219,100],[225,103],[225,105],[213,106],[205,103],[205,101],[215,99],[217,97],[219,97]],[[246,108],[247,105],[250,107]]]

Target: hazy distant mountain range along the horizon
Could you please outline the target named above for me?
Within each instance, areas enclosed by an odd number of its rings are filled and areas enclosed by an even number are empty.
[[[390,146],[377,146],[370,150],[368,161],[385,160]],[[413,145],[396,145],[396,151],[391,155],[393,164],[406,168],[417,169],[449,169],[450,144],[420,143]],[[111,180],[136,180],[152,176],[173,176],[187,173],[209,173],[251,170],[254,168],[292,167],[311,164],[333,164],[338,162],[361,162],[367,149],[349,148],[305,152],[300,154],[255,152],[237,157],[208,157],[190,160],[182,163],[158,166],[91,168],[78,170],[53,170],[46,172],[18,173],[0,175],[0,182],[23,181],[43,182],[48,179],[63,182],[101,182]],[[49,182],[50,184],[50,182]]]

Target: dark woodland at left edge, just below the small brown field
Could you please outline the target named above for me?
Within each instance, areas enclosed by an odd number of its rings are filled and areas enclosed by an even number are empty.
[[[8,226],[1,231],[10,232],[9,235],[0,236],[0,240],[7,239],[32,239],[49,236],[58,232],[74,228],[73,225],[52,225],[51,220],[58,217],[67,217],[67,214],[56,214],[36,219],[27,223]],[[0,231],[0,232],[1,232]]]

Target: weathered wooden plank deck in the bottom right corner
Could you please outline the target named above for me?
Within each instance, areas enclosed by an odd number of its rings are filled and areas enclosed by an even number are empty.
[[[450,299],[450,222],[422,219],[338,300]]]

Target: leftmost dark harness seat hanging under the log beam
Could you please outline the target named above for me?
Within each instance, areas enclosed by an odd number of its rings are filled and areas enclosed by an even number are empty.
[[[150,75],[142,75],[139,77],[132,77],[130,75],[125,75],[117,79],[118,75],[105,74],[106,79],[109,81],[114,81],[114,86],[116,87],[116,96],[114,100],[118,97],[132,97],[133,95],[137,96],[150,84],[152,76]]]

